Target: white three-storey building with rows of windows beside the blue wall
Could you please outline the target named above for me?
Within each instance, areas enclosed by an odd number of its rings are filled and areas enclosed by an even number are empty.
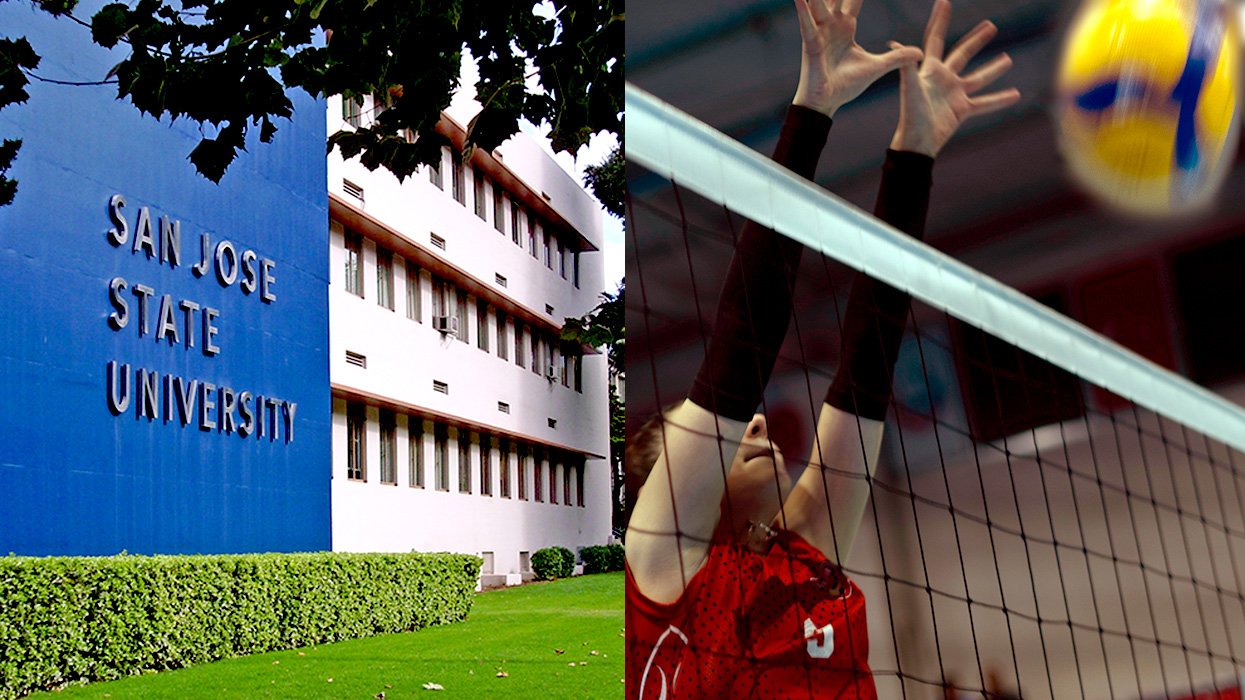
[[[329,101],[330,133],[367,120]],[[599,206],[518,135],[400,183],[329,157],[332,548],[484,558],[610,536],[605,355],[558,340],[604,289]]]

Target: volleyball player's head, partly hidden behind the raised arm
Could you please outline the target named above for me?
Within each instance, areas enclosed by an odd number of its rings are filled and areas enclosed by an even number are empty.
[[[664,425],[665,416],[671,409],[674,405],[649,419],[640,430],[627,436],[624,471],[629,509],[661,455],[664,431],[670,427]],[[789,492],[791,475],[787,472],[782,451],[769,441],[766,417],[757,414],[748,422],[740,448],[731,462],[726,496],[722,498],[723,518],[728,518],[725,524],[733,533],[747,531],[749,522],[769,524]]]

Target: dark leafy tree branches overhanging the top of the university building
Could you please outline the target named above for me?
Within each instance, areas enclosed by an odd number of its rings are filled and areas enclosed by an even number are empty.
[[[36,4],[72,15],[76,1]],[[105,5],[90,30],[101,46],[129,47],[107,76],[118,98],[205,127],[189,158],[219,182],[254,132],[270,142],[293,115],[290,87],[380,95],[387,108],[329,147],[410,176],[439,156],[435,127],[459,87],[464,47],[479,64],[483,105],[468,125],[472,147],[497,147],[525,118],[552,125],[554,151],[575,152],[598,131],[621,130],[624,20],[621,0],[133,0]]]

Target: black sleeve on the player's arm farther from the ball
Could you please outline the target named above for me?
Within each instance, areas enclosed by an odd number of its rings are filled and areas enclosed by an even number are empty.
[[[814,110],[789,107],[773,159],[812,179],[830,123]],[[713,338],[688,395],[696,405],[727,419],[752,419],[787,335],[803,249],[773,230],[745,224],[718,298]]]

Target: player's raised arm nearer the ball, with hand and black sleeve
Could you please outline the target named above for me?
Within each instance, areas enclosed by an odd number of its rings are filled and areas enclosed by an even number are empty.
[[[982,21],[944,59],[950,16],[951,4],[936,0],[925,31],[924,61],[920,67],[900,67],[900,118],[874,209],[879,219],[918,239],[925,233],[934,157],[966,118],[1020,98],[1015,88],[974,96],[1005,73],[1011,60],[1002,54],[961,76],[996,29]],[[835,563],[850,554],[869,498],[908,306],[906,294],[857,278],[843,319],[839,370],[818,417],[809,466],[779,514],[778,524],[799,533]]]

